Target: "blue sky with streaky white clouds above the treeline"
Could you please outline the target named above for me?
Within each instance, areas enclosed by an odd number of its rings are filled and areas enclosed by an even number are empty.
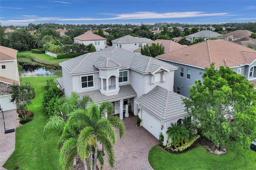
[[[256,22],[255,0],[1,0],[2,26]]]

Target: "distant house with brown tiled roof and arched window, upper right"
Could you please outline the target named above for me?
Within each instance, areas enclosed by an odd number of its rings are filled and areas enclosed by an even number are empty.
[[[223,38],[228,41],[234,41],[234,40],[238,40],[240,38],[249,37],[249,36],[251,36],[251,34],[252,34],[252,32],[248,31],[248,30],[236,30],[233,32],[229,32],[227,34],[220,35],[220,36],[218,36],[218,38]]]

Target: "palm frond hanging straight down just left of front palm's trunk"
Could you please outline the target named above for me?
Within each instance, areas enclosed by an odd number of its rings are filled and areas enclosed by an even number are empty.
[[[97,142],[94,137],[95,134],[92,127],[85,127],[78,136],[77,151],[83,161],[89,156],[92,146]]]

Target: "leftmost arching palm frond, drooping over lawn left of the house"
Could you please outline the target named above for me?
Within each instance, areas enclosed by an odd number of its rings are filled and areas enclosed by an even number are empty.
[[[53,116],[48,119],[46,125],[44,126],[43,135],[46,135],[55,130],[58,133],[61,133],[65,125],[65,120],[60,116]]]

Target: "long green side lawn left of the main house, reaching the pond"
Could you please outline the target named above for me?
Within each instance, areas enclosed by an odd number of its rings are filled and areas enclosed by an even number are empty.
[[[46,80],[56,77],[22,77],[21,83],[46,83]],[[16,128],[15,151],[4,164],[4,168],[14,170],[61,170],[56,149],[58,135],[50,134],[43,137],[43,129],[48,119],[42,107],[44,86],[34,86],[36,97],[28,109],[32,110],[32,121]]]

